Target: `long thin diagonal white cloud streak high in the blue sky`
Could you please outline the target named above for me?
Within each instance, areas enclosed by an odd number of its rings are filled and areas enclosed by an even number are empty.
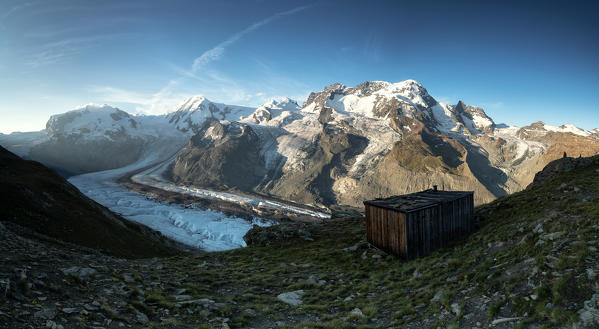
[[[246,34],[253,32],[256,29],[260,28],[261,26],[264,26],[274,20],[277,20],[279,18],[288,16],[288,15],[295,14],[297,12],[300,12],[300,11],[305,10],[310,7],[311,7],[311,5],[306,5],[306,6],[293,8],[291,10],[283,11],[280,13],[276,13],[266,19],[256,22],[256,23],[246,27],[245,29],[233,34],[227,40],[219,43],[218,45],[216,45],[216,47],[205,51],[202,55],[197,57],[193,61],[193,65],[191,66],[191,72],[196,73],[198,70],[200,70],[201,68],[206,66],[208,63],[216,61],[219,58],[221,58],[221,56],[225,53],[225,48],[227,48],[228,46],[232,45],[233,43],[239,41]]]

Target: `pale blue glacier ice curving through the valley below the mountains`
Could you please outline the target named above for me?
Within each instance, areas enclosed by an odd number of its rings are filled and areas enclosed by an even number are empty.
[[[122,188],[117,180],[123,175],[161,162],[172,145],[159,146],[142,160],[129,166],[73,176],[69,182],[82,193],[128,220],[146,225],[163,235],[203,251],[245,247],[243,236],[253,225],[268,226],[272,222],[254,218],[248,221],[218,211],[185,208],[148,199]]]

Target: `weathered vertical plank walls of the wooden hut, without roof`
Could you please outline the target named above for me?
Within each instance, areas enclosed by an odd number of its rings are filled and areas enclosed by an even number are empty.
[[[402,258],[421,257],[472,231],[473,195],[403,213],[365,205],[366,237],[372,245]]]

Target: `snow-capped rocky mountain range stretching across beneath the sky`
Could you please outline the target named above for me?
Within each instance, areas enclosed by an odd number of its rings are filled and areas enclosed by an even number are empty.
[[[481,204],[524,189],[564,152],[597,154],[599,129],[496,124],[482,108],[438,102],[406,80],[333,84],[301,106],[194,96],[146,116],[90,104],[53,115],[42,131],[0,134],[0,144],[64,176],[123,167],[160,145],[174,155],[157,161],[162,176],[180,185],[325,207],[438,185],[473,190]]]

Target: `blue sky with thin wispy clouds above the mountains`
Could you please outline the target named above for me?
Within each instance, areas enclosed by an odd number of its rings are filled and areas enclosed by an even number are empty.
[[[302,102],[415,79],[496,122],[599,127],[599,4],[0,0],[0,132],[87,103]]]

